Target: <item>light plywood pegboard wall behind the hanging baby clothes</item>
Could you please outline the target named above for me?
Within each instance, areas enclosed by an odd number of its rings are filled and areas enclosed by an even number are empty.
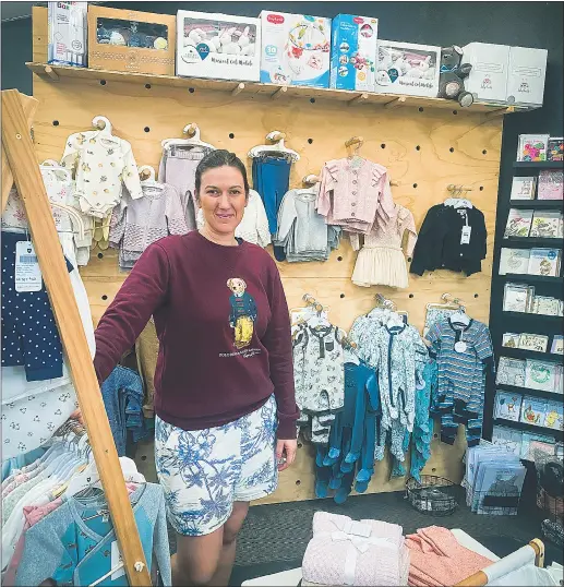
[[[37,13],[36,10],[34,16]],[[36,61],[45,55],[43,26],[35,17]],[[290,308],[301,306],[303,294],[311,294],[331,308],[332,322],[345,330],[374,307],[375,292],[407,310],[409,322],[419,330],[425,304],[439,301],[444,292],[461,298],[470,315],[488,322],[503,117],[488,118],[471,109],[461,110],[454,101],[452,110],[417,104],[395,109],[369,105],[347,108],[343,103],[314,97],[272,100],[244,92],[237,96],[201,88],[191,92],[156,84],[107,82],[101,76],[52,82],[34,75],[34,97],[39,100],[34,130],[40,160],[60,158],[67,136],[88,129],[93,117],[103,115],[113,124],[113,133],[132,144],[137,165],[152,165],[155,169],[160,159],[160,141],[181,136],[190,122],[200,125],[204,141],[233,151],[247,164],[250,147],[264,143],[273,130],[284,131],[287,145],[301,156],[292,166],[290,187],[301,187],[301,178],[319,173],[326,160],[346,156],[345,141],[362,135],[362,155],[386,166],[393,180],[400,182],[392,190],[394,200],[412,212],[417,227],[432,205],[447,197],[447,184],[471,185],[469,197],[483,212],[489,233],[482,272],[471,277],[436,271],[423,277],[410,275],[405,290],[357,287],[350,279],[356,253],[347,240],[325,263],[281,263],[278,267]],[[96,323],[127,275],[119,272],[117,253],[111,250],[94,251],[81,274]],[[465,446],[461,430],[454,446],[441,444],[435,438],[424,472],[460,481]],[[296,465],[281,475],[278,491],[265,502],[314,498],[312,453],[308,445],[299,448]],[[391,468],[389,458],[376,464],[369,492],[404,488],[405,479],[388,480]]]

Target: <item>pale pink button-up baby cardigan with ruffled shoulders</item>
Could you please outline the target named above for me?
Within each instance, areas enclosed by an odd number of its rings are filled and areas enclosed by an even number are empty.
[[[387,169],[368,159],[359,165],[348,158],[327,161],[315,207],[327,224],[369,235],[395,215]]]

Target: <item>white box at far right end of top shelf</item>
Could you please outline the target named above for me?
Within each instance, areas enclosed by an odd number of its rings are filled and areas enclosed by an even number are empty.
[[[507,103],[542,106],[547,49],[512,47],[507,73]]]

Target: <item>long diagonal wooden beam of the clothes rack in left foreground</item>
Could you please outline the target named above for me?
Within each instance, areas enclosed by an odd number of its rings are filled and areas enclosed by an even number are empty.
[[[2,91],[2,212],[15,183],[24,203],[129,584],[151,586],[147,562],[31,137],[37,104],[16,89]]]

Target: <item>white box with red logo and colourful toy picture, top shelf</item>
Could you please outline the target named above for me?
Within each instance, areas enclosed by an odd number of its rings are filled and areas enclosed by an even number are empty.
[[[261,82],[329,87],[331,19],[261,12]]]

